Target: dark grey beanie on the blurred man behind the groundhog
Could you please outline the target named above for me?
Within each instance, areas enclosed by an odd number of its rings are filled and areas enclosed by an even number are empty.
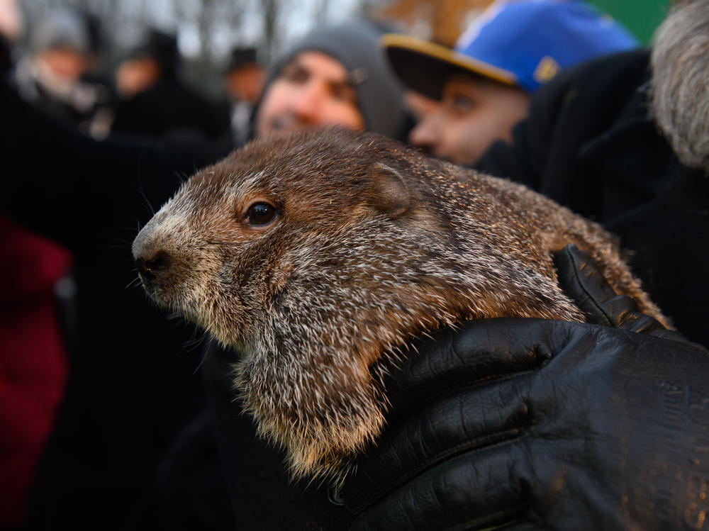
[[[367,130],[396,138],[405,123],[403,86],[379,45],[383,33],[364,20],[316,28],[276,62],[267,86],[298,53],[323,52],[347,69]]]

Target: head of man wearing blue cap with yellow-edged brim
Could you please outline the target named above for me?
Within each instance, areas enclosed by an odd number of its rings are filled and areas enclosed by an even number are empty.
[[[409,141],[456,164],[474,164],[493,141],[510,140],[530,96],[562,69],[637,46],[581,0],[493,2],[453,50],[406,35],[382,42],[406,87],[440,101]]]

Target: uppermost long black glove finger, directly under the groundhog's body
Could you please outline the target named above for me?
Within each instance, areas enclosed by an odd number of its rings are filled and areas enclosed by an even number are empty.
[[[392,409],[415,410],[432,396],[532,371],[564,345],[564,323],[496,318],[443,328],[413,343],[414,352],[386,380]]]

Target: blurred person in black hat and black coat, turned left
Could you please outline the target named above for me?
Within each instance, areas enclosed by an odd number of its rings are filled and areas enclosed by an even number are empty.
[[[151,29],[116,71],[111,133],[190,135],[215,140],[229,134],[229,116],[182,80],[177,38]]]

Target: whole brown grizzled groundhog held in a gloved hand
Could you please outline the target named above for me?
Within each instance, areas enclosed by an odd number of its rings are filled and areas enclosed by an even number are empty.
[[[337,479],[381,432],[386,362],[412,337],[469,319],[584,320],[552,263],[569,243],[669,324],[596,223],[336,128],[258,140],[201,170],[133,255],[150,297],[240,353],[235,389],[294,476]]]

